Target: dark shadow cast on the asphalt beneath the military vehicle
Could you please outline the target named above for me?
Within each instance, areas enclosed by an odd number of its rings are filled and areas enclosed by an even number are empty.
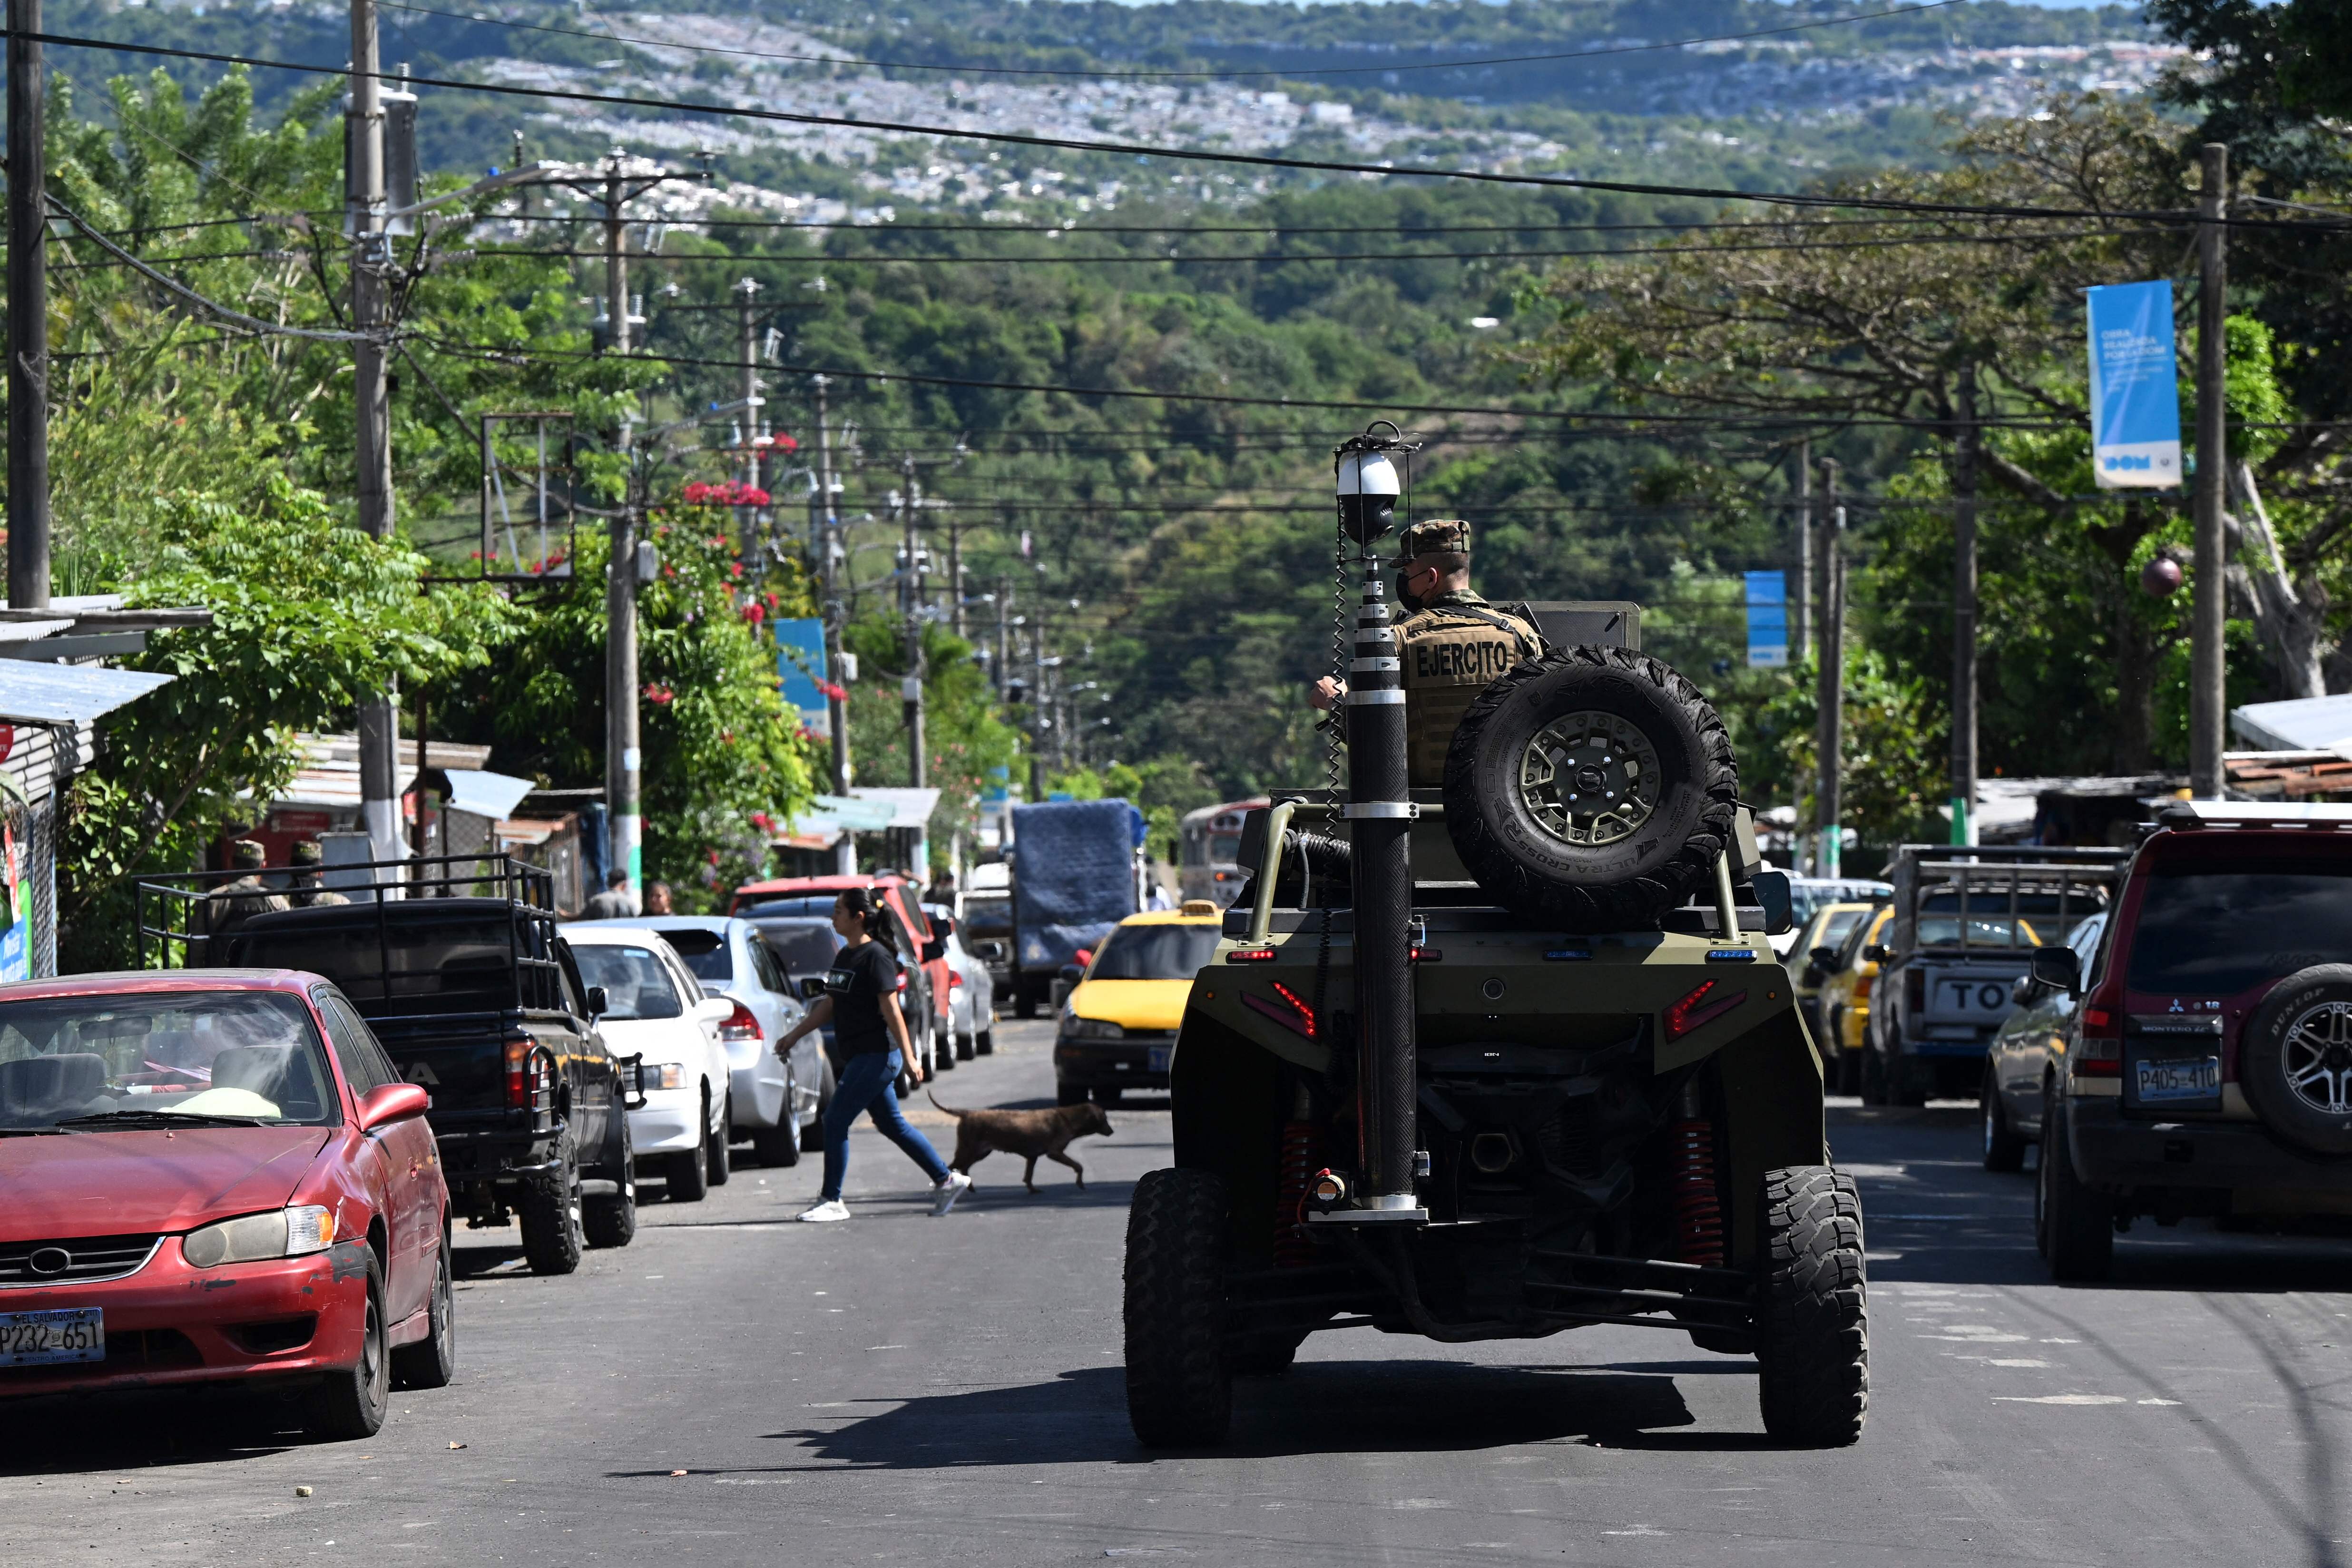
[[[1237,1380],[1232,1436],[1211,1453],[1265,1460],[1305,1453],[1461,1453],[1559,1441],[1625,1443],[1693,1425],[1672,1380],[1675,1366],[1679,1363],[1625,1371],[1303,1361],[1287,1378]],[[1077,1368],[1023,1387],[875,1403],[889,1408],[851,1415],[842,1425],[764,1434],[797,1443],[804,1462],[757,1469],[974,1469],[1155,1458],[1127,1425],[1127,1375],[1110,1366]],[[1743,1434],[1691,1434],[1696,1448],[1750,1443]]]

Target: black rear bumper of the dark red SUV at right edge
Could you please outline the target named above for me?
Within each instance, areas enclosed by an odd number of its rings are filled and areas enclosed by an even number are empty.
[[[2126,1119],[2105,1095],[2067,1100],[2065,1121],[2074,1171],[2112,1197],[2258,1192],[2274,1213],[2298,1197],[2328,1213],[2352,1199],[2352,1161],[2300,1154],[2253,1121]]]

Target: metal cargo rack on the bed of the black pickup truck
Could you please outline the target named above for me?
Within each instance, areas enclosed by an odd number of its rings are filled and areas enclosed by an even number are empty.
[[[259,877],[261,896],[299,889],[315,867],[176,872],[141,877],[132,889],[139,969],[242,964],[245,947],[270,936],[315,936],[320,952],[343,959],[329,978],[369,1018],[452,1011],[567,1011],[562,961],[555,957],[555,875],[506,853],[416,856],[325,867],[343,905],[238,912],[228,898],[256,898],[230,886]],[[397,961],[419,926],[496,926],[475,952],[433,964]],[[372,940],[369,940],[372,938]],[[503,954],[499,945],[503,940]],[[499,961],[503,957],[503,964]],[[480,985],[496,976],[494,985]],[[506,978],[513,976],[513,990]],[[409,1006],[414,1004],[414,1006]]]

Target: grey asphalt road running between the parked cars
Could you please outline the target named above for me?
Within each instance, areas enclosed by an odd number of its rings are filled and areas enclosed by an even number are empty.
[[[997,1039],[943,1100],[1042,1103],[1044,1025]],[[397,1394],[367,1443],[219,1403],[42,1415],[35,1458],[0,1465],[0,1561],[2352,1559],[2352,1246],[2143,1222],[2117,1284],[2056,1288],[2030,1178],[1976,1166],[1964,1107],[1832,1107],[1870,1225],[1856,1448],[1773,1448],[1752,1363],[1670,1331],[1439,1347],[1355,1328],[1242,1385],[1230,1448],[1145,1453],[1120,1253],[1169,1128],[1155,1107],[1115,1119],[1077,1145],[1084,1192],[1044,1166],[1028,1197],[997,1157],[946,1220],[861,1131],[847,1225],[790,1222],[809,1159],[649,1201],[630,1248],[569,1279],[522,1274],[510,1232],[459,1232],[454,1387]]]

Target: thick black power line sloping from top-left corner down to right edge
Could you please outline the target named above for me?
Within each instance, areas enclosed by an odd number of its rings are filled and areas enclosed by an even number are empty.
[[[261,66],[266,71],[299,71],[306,75],[334,75],[348,78],[346,66],[303,66],[282,59],[261,59],[254,54],[221,54],[216,49],[169,49],[165,45],[129,45],[113,42],[108,38],[75,38],[66,33],[24,33],[40,42],[64,45],[68,49],[111,49],[118,54],[158,54],[165,59],[200,59],[221,66]],[[1136,141],[1082,141],[1075,136],[1033,136],[1025,132],[971,132],[957,129],[953,125],[915,125],[903,120],[858,120],[851,115],[811,115],[783,108],[753,108],[753,106],[717,106],[717,103],[691,103],[684,99],[640,99],[616,92],[581,92],[576,87],[522,87],[517,82],[459,82],[452,78],[409,75],[405,78],[409,87],[442,87],[447,92],[482,92],[496,96],[515,99],[555,99],[562,103],[612,103],[619,108],[661,108],[684,115],[720,115],[734,120],[769,120],[779,125],[833,125],[842,129],[863,132],[889,132],[896,136],[941,136],[948,141],[990,141],[1000,146],[1028,146],[1028,148],[1061,148],[1070,153],[1110,153],[1117,158],[1171,158],[1178,162],[1214,162],[1214,165],[1242,165],[1256,169],[1303,169],[1315,174],[1369,174],[1369,176],[1399,176],[1399,179],[1461,179],[1486,186],[1534,186],[1548,190],[1609,190],[1616,195],[1679,195],[1693,200],[1712,202],[1766,202],[1778,207],[1849,207],[1865,212],[1922,212],[1922,214],[1945,214],[1945,216],[1992,216],[1992,219],[2089,219],[2098,223],[2117,221],[2143,221],[2143,223],[2197,223],[2194,212],[2169,212],[2169,209],[2117,209],[2098,212],[2091,207],[2025,207],[2025,205],[1971,205],[1971,202],[1915,202],[1900,197],[1865,197],[1865,195],[1823,195],[1804,190],[1724,190],[1710,186],[1656,186],[1644,181],[1611,181],[1611,179],[1576,179],[1566,174],[1503,174],[1498,169],[1437,169],[1425,165],[1399,165],[1399,162],[1341,162],[1324,158],[1277,158],[1272,153],[1218,153],[1211,148],[1162,148]],[[2246,219],[2220,219],[2239,228],[2284,228],[2288,219],[2272,219],[2263,223],[2249,223]],[[2317,228],[2317,223],[2314,223]],[[2343,223],[2331,223],[2326,228],[2343,228]]]

